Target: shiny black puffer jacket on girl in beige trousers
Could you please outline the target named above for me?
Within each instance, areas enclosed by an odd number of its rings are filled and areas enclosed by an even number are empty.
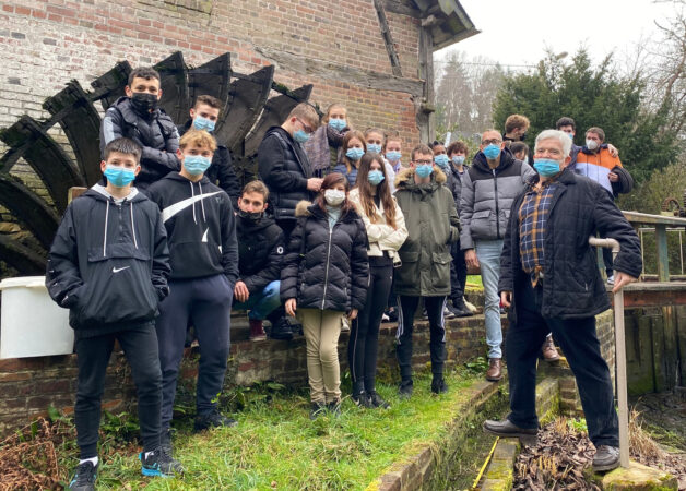
[[[300,202],[281,272],[281,300],[304,309],[350,312],[365,306],[369,286],[367,232],[356,212],[333,228],[318,204]]]

